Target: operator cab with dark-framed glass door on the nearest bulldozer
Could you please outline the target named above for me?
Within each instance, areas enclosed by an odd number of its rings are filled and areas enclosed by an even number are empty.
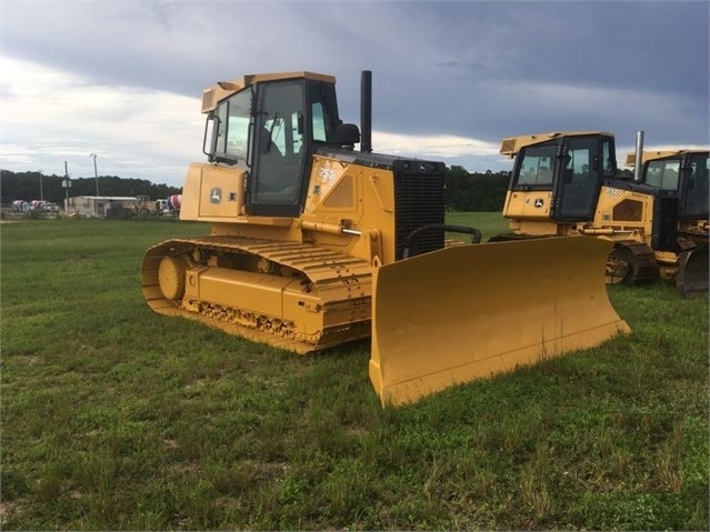
[[[331,77],[296,72],[222,84],[234,91],[228,98],[219,94],[219,103],[208,109],[204,152],[210,162],[246,171],[246,214],[298,217],[312,147],[359,140],[357,128],[350,139],[339,139],[343,124],[334,82]],[[219,201],[222,198],[214,198]]]

